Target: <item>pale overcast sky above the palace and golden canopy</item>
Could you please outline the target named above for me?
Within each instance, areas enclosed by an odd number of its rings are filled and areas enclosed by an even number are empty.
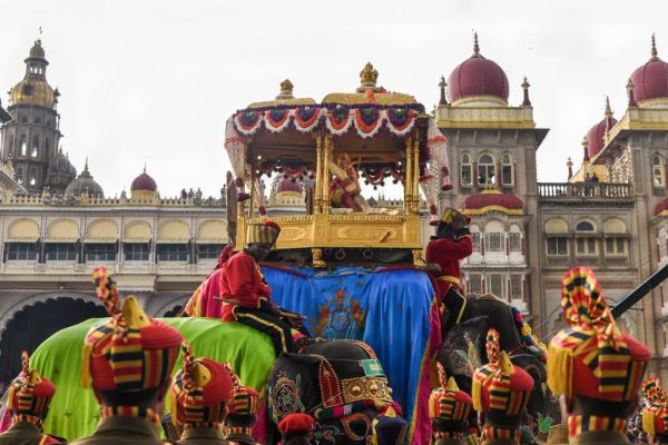
[[[649,59],[657,32],[668,58],[666,1],[228,1],[0,0],[0,91],[23,77],[38,29],[61,92],[61,145],[107,196],[129,190],[144,162],[163,196],[202,187],[217,195],[228,168],[225,120],[273,99],[321,100],[353,91],[371,61],[379,83],[431,110],[438,82],[472,52],[504,69],[510,102],[531,83],[534,119],[550,132],[540,181],[566,180],[569,156],[603,117],[626,109],[626,82]]]

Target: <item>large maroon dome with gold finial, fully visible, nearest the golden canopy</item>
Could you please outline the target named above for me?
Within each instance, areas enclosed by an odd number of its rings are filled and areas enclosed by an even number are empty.
[[[478,36],[473,56],[460,63],[448,78],[448,96],[451,102],[475,96],[491,96],[508,103],[508,77],[493,60],[485,59],[478,47]]]

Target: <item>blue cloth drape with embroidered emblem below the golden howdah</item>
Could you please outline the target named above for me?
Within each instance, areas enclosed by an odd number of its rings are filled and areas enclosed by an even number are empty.
[[[332,271],[266,267],[272,299],[307,317],[314,336],[355,338],[379,356],[393,397],[411,422],[429,347],[434,289],[423,271],[363,268]]]

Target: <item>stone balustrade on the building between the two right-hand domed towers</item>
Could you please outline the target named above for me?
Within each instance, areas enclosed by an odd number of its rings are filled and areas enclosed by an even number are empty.
[[[632,197],[630,184],[618,182],[539,182],[538,196],[549,199],[620,199]]]

